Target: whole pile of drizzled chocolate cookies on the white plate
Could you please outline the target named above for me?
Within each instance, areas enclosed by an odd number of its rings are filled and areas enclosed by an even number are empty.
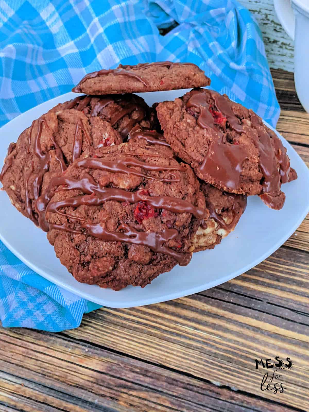
[[[9,145],[3,188],[75,279],[144,287],[220,243],[248,195],[283,207],[281,184],[297,178],[286,148],[252,110],[202,88],[209,84],[192,63],[89,73],[73,89],[83,96]],[[132,94],[185,88],[152,108]]]

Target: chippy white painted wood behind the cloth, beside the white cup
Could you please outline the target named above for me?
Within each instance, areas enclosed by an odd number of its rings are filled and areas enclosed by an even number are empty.
[[[294,71],[294,42],[281,26],[273,0],[239,0],[258,22],[265,44],[269,66]]]

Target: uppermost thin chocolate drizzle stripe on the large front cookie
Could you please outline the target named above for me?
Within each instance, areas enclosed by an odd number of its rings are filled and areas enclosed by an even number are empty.
[[[135,169],[131,169],[129,166],[136,166],[147,171],[182,171],[181,166],[159,166],[155,164],[150,164],[142,162],[141,160],[135,159],[134,157],[124,157],[122,159],[116,159],[113,161],[105,159],[96,159],[93,157],[88,157],[87,159],[80,159],[75,162],[76,167],[84,167],[89,169],[99,169],[105,170],[111,173],[126,173],[135,176],[144,177],[147,179],[159,180],[161,182],[177,182],[176,178],[173,179],[159,179],[152,176],[147,176],[142,172],[139,172]]]

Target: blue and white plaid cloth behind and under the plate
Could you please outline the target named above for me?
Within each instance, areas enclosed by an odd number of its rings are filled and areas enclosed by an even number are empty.
[[[196,63],[211,88],[276,125],[262,36],[235,0],[1,0],[0,125],[70,91],[86,73],[162,60]],[[35,274],[0,242],[3,326],[76,328],[97,307]]]

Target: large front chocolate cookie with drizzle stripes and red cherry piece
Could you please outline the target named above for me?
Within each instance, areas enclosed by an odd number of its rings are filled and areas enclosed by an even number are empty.
[[[191,259],[208,217],[199,182],[167,147],[105,147],[76,160],[36,202],[57,257],[80,282],[144,287]]]

